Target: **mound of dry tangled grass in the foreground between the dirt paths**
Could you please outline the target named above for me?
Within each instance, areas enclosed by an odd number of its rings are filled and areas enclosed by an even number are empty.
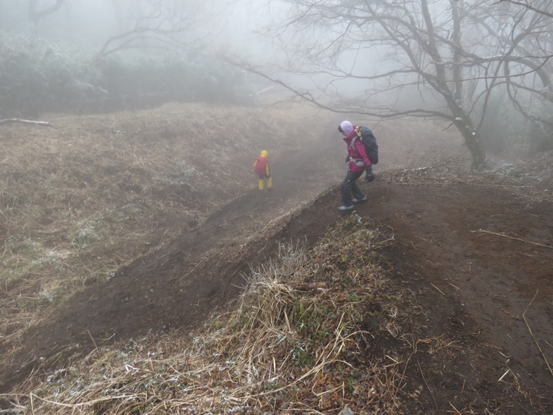
[[[30,379],[14,405],[30,414],[396,413],[404,362],[364,353],[373,336],[359,304],[385,284],[376,252],[391,241],[371,228],[350,216],[312,250],[281,246],[252,269],[233,311],[190,335],[95,351],[46,382]]]

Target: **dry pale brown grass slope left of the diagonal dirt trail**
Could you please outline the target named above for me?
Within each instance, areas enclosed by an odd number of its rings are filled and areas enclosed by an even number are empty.
[[[250,190],[243,166],[293,149],[312,115],[167,104],[1,126],[0,344]]]

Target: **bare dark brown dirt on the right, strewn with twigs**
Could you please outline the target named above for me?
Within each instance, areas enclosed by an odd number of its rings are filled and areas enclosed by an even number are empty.
[[[391,261],[401,284],[427,308],[428,331],[474,338],[488,353],[472,365],[490,383],[508,368],[509,378],[550,396],[552,205],[529,204],[507,185],[386,183],[371,195],[359,214],[394,230]]]

